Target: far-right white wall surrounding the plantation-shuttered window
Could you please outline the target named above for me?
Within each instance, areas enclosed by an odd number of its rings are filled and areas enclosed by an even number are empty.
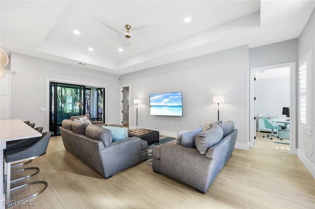
[[[314,110],[314,104],[315,104],[315,10],[313,10],[313,13],[308,20],[306,26],[304,27],[302,33],[300,34],[298,38],[298,54],[299,54],[299,60],[302,59],[302,57],[306,54],[306,52],[309,49],[312,49],[312,78],[311,83],[313,83],[312,88],[312,109],[313,109],[313,115],[312,121],[313,121],[313,127],[312,127],[312,135],[309,135],[303,131],[301,131],[300,127],[298,126],[298,156],[303,161],[305,166],[308,168],[308,170],[312,173],[312,175],[315,178],[315,110]]]

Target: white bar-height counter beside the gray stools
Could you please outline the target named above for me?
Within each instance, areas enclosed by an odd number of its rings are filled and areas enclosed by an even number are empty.
[[[17,120],[0,120],[0,208],[4,209],[4,188],[3,188],[3,150],[6,148],[7,141],[26,139],[41,136],[41,133],[32,129],[23,121]]]

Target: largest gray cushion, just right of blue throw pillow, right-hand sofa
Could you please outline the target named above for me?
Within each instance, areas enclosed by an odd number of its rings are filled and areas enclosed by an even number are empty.
[[[195,145],[200,154],[204,155],[208,149],[217,144],[223,137],[223,130],[217,124],[209,130],[198,133],[195,138]]]

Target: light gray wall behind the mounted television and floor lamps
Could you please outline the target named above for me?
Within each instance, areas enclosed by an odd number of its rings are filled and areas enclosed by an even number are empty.
[[[248,149],[248,46],[241,46],[150,68],[121,76],[121,85],[130,84],[130,101],[138,104],[138,127],[176,136],[183,131],[217,120],[214,95],[224,95],[220,120],[232,120],[239,129],[237,147]],[[183,92],[183,117],[152,116],[149,94]],[[130,104],[130,124],[135,127],[135,104]],[[171,127],[172,125],[172,127]]]

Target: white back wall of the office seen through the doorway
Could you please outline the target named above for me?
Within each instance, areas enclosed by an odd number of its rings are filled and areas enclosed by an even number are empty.
[[[255,80],[255,116],[285,118],[283,107],[290,106],[290,77]]]

